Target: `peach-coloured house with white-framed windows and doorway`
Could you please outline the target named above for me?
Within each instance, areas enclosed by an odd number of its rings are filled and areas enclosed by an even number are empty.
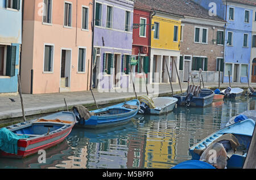
[[[92,8],[89,0],[24,1],[23,93],[89,89]]]

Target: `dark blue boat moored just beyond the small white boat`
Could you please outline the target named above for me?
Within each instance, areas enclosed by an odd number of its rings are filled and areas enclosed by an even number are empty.
[[[205,107],[212,104],[214,92],[210,89],[201,89],[197,95],[187,91],[173,97],[177,98],[177,105]]]

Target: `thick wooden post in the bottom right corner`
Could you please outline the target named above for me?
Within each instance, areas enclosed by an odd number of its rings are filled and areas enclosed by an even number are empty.
[[[243,169],[256,169],[256,128],[254,128],[253,137],[251,138],[249,151],[245,158]]]

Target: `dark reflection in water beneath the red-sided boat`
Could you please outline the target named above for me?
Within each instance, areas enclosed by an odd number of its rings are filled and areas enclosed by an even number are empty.
[[[44,166],[54,166],[56,162],[67,160],[71,155],[72,149],[68,145],[68,140],[65,139],[55,147],[46,150],[46,164],[39,164],[38,157],[40,155],[32,155],[23,159],[0,158],[0,169],[25,169],[25,168],[43,168]]]

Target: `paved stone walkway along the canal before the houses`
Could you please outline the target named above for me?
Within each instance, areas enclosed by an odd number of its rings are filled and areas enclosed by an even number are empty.
[[[198,83],[197,83],[198,84]],[[178,83],[172,84],[175,93],[180,93],[180,87]],[[187,83],[182,83],[183,91],[187,89]],[[251,87],[256,88],[256,83],[250,84]],[[144,84],[141,85],[144,88],[139,90],[139,85],[136,85],[138,96],[146,95],[146,90]],[[203,86],[203,85],[202,85]],[[218,83],[206,83],[207,88],[217,88]],[[228,87],[228,83],[221,84],[221,89]],[[247,84],[232,83],[232,87],[242,87],[247,88]],[[151,87],[149,85],[150,95],[157,97],[163,96],[171,93],[170,84],[159,84]],[[153,91],[151,91],[153,89]],[[96,98],[98,105],[106,105],[109,103],[122,102],[125,100],[130,100],[135,98],[135,93],[133,92],[133,85],[131,85],[129,92],[127,89],[111,89],[112,92],[101,92],[98,90],[93,90],[94,96]],[[124,91],[124,92],[123,92]],[[9,98],[15,100],[12,102]],[[84,92],[65,92],[65,93],[50,93],[42,95],[27,95],[23,94],[24,110],[26,115],[35,115],[43,113],[53,113],[60,110],[65,110],[64,98],[67,100],[69,108],[73,105],[82,104],[86,107],[93,106],[94,100],[92,93],[90,91]],[[20,105],[19,96],[2,96],[0,97],[0,119],[7,118],[21,118],[22,110]],[[21,118],[22,119],[22,118]],[[0,121],[1,123],[1,121]]]

